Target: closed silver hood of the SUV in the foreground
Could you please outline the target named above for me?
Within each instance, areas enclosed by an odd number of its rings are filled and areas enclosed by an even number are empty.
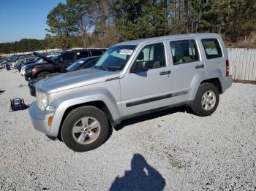
[[[83,69],[70,71],[53,77],[42,79],[37,84],[37,88],[45,90],[47,93],[56,93],[63,90],[92,85],[105,82],[108,79],[119,77],[118,71],[103,71],[98,69]]]

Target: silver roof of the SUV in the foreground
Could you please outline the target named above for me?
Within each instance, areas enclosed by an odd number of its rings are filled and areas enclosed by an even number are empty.
[[[176,34],[176,35],[168,35],[168,36],[159,36],[149,39],[138,39],[138,40],[132,40],[127,42],[121,42],[118,44],[115,44],[114,46],[121,46],[121,45],[138,45],[140,43],[146,43],[146,42],[154,42],[154,41],[162,41],[162,40],[169,40],[169,39],[186,39],[186,38],[217,38],[219,35],[216,33],[199,33],[199,34]]]

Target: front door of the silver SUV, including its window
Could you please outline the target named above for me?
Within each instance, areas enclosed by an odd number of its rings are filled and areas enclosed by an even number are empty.
[[[140,50],[136,62],[145,62],[148,71],[128,71],[120,79],[124,116],[165,106],[171,89],[164,43],[147,44]]]

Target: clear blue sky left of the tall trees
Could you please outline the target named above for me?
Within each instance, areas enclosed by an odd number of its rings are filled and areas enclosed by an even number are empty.
[[[0,43],[44,39],[48,12],[65,0],[0,0]]]

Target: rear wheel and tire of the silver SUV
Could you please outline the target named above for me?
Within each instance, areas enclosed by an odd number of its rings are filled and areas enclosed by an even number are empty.
[[[197,90],[191,109],[194,114],[205,117],[213,114],[217,109],[218,104],[219,90],[217,87],[211,83],[203,83]]]

